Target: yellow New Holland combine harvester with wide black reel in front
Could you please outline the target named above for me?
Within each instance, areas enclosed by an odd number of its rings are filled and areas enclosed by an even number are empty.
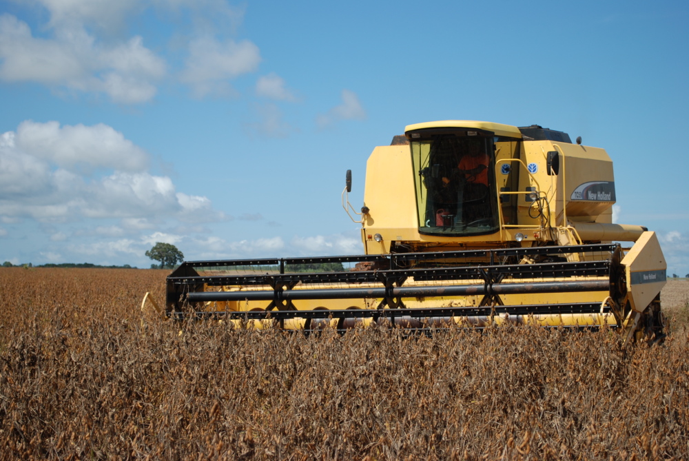
[[[360,213],[350,191],[347,172],[342,205],[358,215],[364,255],[183,263],[167,278],[167,315],[306,330],[534,322],[664,335],[665,259],[654,232],[613,224],[603,149],[537,125],[418,123],[373,150]]]

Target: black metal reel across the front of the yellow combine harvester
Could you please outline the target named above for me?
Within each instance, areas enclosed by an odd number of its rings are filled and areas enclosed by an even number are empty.
[[[603,253],[601,260],[561,262],[566,254]],[[167,315],[173,318],[261,319],[275,318],[365,318],[413,315],[415,318],[436,316],[486,316],[496,314],[587,314],[600,313],[594,303],[504,306],[501,294],[555,293],[573,291],[614,291],[614,254],[617,244],[571,245],[562,247],[529,247],[466,250],[456,252],[396,253],[387,255],[331,256],[318,258],[271,258],[253,260],[192,261],[183,263],[167,277]],[[517,258],[549,258],[554,262],[515,264]],[[506,261],[507,264],[500,264]],[[373,269],[351,272],[291,272],[285,266],[316,263],[373,263]],[[272,266],[275,274],[200,275],[196,269],[220,267]],[[581,278],[588,277],[582,280]],[[475,280],[471,285],[427,285],[404,287],[408,278],[416,281]],[[558,278],[557,282],[515,282],[524,278]],[[570,280],[563,280],[570,279]],[[509,280],[506,282],[506,280]],[[377,287],[298,289],[298,284],[376,284]],[[270,289],[251,291],[204,291],[206,286],[265,286]],[[433,296],[483,296],[477,307],[436,307],[407,309],[403,298]],[[292,300],[382,298],[378,308],[356,311],[347,309],[298,311]],[[185,309],[191,303],[227,300],[266,300],[263,311],[205,312]],[[277,309],[277,310],[275,310]],[[608,308],[606,308],[608,309]],[[186,312],[186,313],[185,313]],[[487,314],[490,313],[490,314]]]

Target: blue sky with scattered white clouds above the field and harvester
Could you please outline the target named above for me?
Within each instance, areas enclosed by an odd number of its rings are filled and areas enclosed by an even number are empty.
[[[0,260],[358,254],[404,126],[537,123],[615,162],[619,223],[689,272],[689,6],[0,1]]]

